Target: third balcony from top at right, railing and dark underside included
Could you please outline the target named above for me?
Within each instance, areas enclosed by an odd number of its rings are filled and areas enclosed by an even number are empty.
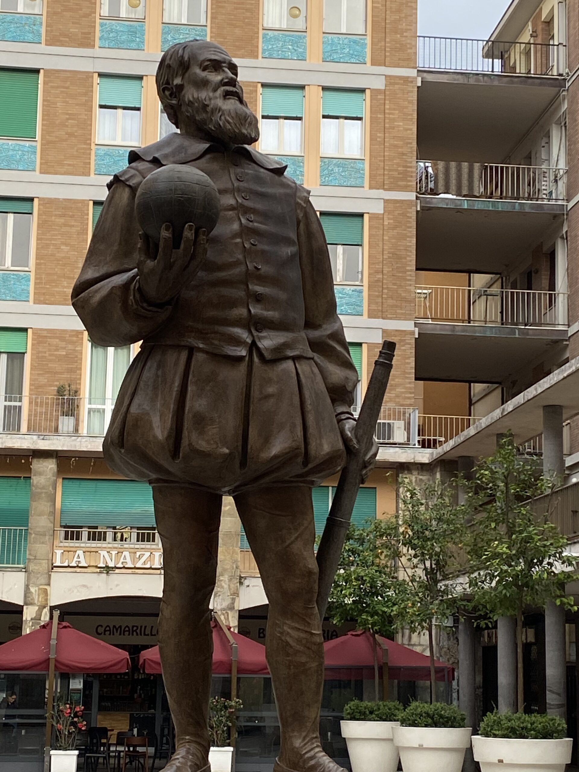
[[[567,294],[416,288],[416,378],[502,383],[567,341]]]

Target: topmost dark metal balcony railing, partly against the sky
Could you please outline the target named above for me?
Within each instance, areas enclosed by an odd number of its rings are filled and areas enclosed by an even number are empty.
[[[430,35],[418,36],[418,67],[463,73],[563,75],[562,43],[508,42]]]

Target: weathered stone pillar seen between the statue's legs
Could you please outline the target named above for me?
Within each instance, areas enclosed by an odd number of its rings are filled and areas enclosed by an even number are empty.
[[[239,622],[239,534],[241,521],[230,496],[224,496],[219,528],[217,582],[213,609],[225,625],[237,630]]]

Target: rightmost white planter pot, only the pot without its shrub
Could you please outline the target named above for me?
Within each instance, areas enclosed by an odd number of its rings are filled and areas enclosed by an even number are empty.
[[[507,740],[472,738],[472,754],[481,772],[564,772],[571,764],[573,740]]]

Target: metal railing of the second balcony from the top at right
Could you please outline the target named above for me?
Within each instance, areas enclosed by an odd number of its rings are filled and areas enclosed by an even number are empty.
[[[446,162],[417,161],[416,190],[420,195],[456,195],[454,189],[445,190],[438,184],[438,165],[448,167]],[[567,169],[551,166],[521,166],[519,164],[454,164],[461,171],[471,167],[468,192],[460,182],[457,190],[464,197],[491,198],[507,201],[566,201]],[[480,171],[474,171],[479,167]],[[476,178],[472,179],[472,174]],[[452,188],[453,185],[450,185]]]

